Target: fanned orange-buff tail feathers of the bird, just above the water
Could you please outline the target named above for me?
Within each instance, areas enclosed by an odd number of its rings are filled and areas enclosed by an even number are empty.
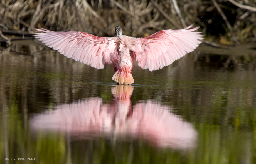
[[[131,72],[117,71],[112,77],[112,80],[118,82],[119,84],[130,85],[134,83]]]

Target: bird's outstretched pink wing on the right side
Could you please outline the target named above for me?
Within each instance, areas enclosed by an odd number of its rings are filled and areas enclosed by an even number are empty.
[[[148,37],[137,38],[141,40],[144,50],[133,51],[138,66],[150,71],[158,70],[194,51],[203,35],[195,31],[199,27],[190,27],[192,25],[181,30],[162,30]]]

